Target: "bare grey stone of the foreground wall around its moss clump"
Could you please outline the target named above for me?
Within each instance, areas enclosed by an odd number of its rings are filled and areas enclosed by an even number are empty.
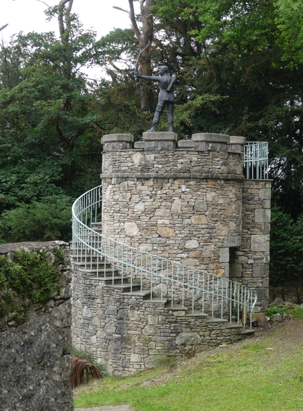
[[[0,401],[3,411],[70,411],[71,304],[69,245],[63,241],[0,245],[0,254],[16,249],[47,249],[58,268],[60,290],[43,305],[32,305],[22,324],[0,319]],[[60,248],[65,259],[56,256]]]

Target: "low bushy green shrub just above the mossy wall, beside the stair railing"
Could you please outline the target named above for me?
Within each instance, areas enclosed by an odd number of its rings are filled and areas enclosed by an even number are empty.
[[[71,238],[71,197],[52,195],[16,205],[17,208],[4,211],[0,218],[0,238],[6,242]]]

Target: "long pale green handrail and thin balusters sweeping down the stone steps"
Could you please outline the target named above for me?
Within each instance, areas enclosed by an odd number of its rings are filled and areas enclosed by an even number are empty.
[[[147,251],[141,251],[137,248],[128,246],[114,240],[110,237],[107,237],[103,234],[98,233],[97,231],[91,228],[92,226],[92,211],[95,212],[95,221],[97,222],[97,208],[100,206],[102,202],[102,185],[93,188],[86,193],[82,194],[77,200],[74,201],[72,205],[72,226],[73,226],[73,253],[74,255],[78,255],[79,245],[81,247],[81,251],[85,250],[85,257],[90,253],[91,256],[96,256],[96,254],[101,257],[104,257],[105,260],[112,262],[112,279],[114,277],[114,270],[115,264],[119,267],[122,267],[122,283],[123,283],[123,269],[129,269],[131,272],[130,275],[130,286],[132,287],[132,270],[140,271],[141,273],[141,292],[143,286],[143,274],[147,278],[150,276],[150,296],[152,297],[153,293],[153,280],[155,281],[155,277],[157,281],[160,280],[161,285],[163,285],[163,280],[166,284],[171,283],[172,288],[172,305],[173,305],[173,289],[174,284],[176,284],[177,288],[182,286],[183,294],[182,294],[182,305],[184,305],[184,287],[187,290],[192,289],[192,310],[194,312],[194,292],[196,291],[197,294],[201,293],[203,295],[202,300],[202,307],[204,312],[204,294],[207,294],[207,297],[210,295],[212,296],[212,316],[214,317],[214,298],[219,303],[219,298],[221,298],[221,317],[223,317],[223,298],[224,302],[230,302],[230,321],[232,320],[232,305],[234,305],[234,309],[237,306],[237,311],[239,314],[240,309],[246,307],[247,312],[250,311],[250,323],[252,323],[252,313],[254,312],[254,306],[257,301],[257,294],[255,291],[249,289],[246,286],[243,286],[240,283],[234,282],[230,279],[217,276],[215,274],[209,273],[205,270],[196,269],[190,266],[186,266],[179,261],[173,261],[156,254],[149,253]],[[91,201],[92,199],[92,201]],[[87,213],[87,210],[90,213]],[[84,215],[85,213],[85,215]],[[80,218],[79,218],[80,217]],[[90,227],[88,226],[87,217],[90,219]],[[85,219],[85,222],[83,222]],[[77,253],[75,253],[77,245]],[[89,251],[88,251],[89,250]],[[112,251],[111,251],[112,250]],[[129,250],[129,251],[128,251]],[[115,256],[115,251],[116,255]],[[121,260],[119,257],[119,252],[122,251],[122,258]],[[112,253],[112,254],[111,254]],[[126,254],[126,259],[125,259]],[[128,260],[128,256],[131,255],[130,260]],[[135,255],[135,257],[134,257]],[[141,267],[140,264],[138,266],[138,257],[139,261],[141,260]],[[80,258],[80,257],[79,257]],[[153,260],[156,260],[156,272],[153,271]],[[81,253],[81,261],[82,261],[82,253]],[[142,261],[146,261],[145,267],[143,267]],[[151,268],[148,268],[147,261],[150,261]],[[99,257],[97,258],[97,277],[99,277],[98,272],[98,262]],[[92,263],[90,262],[90,265]],[[158,267],[159,271],[158,271]],[[86,258],[85,258],[85,267],[86,267]],[[167,268],[167,271],[164,273],[163,268]],[[168,270],[168,267],[169,270]],[[161,271],[162,268],[162,271]],[[155,269],[155,263],[154,263]],[[102,271],[102,269],[100,269]],[[105,275],[105,264],[104,264],[104,275]],[[120,270],[121,271],[121,270]],[[192,275],[190,275],[190,272]],[[170,276],[168,275],[170,274]],[[174,278],[174,275],[176,278]],[[179,276],[183,276],[183,282],[180,282]],[[184,276],[187,276],[187,282],[184,282]],[[196,276],[196,279],[195,279]],[[153,278],[154,277],[154,278]],[[191,281],[189,278],[192,278]],[[113,280],[112,280],[113,281]],[[125,281],[125,277],[124,277]],[[204,283],[207,281],[207,290],[204,289]],[[203,287],[200,286],[202,283]],[[113,282],[112,282],[113,284]],[[223,286],[224,284],[224,286]],[[219,292],[219,288],[221,289],[221,293]],[[224,295],[223,295],[224,290]],[[161,288],[161,299],[163,298],[162,295],[162,288]],[[238,323],[239,323],[239,315],[238,315]],[[245,322],[243,324],[245,327]]]

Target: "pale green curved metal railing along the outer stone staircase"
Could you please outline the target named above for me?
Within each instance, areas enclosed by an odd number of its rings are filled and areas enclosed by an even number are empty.
[[[159,257],[106,237],[92,229],[98,222],[102,206],[102,186],[79,197],[72,206],[72,253],[76,263],[96,272],[96,278],[110,278],[112,285],[130,285],[139,293],[150,290],[150,300],[170,300],[170,304],[197,307],[214,318],[238,318],[244,310],[252,327],[252,313],[257,294],[239,283]],[[200,300],[198,304],[197,300]]]

